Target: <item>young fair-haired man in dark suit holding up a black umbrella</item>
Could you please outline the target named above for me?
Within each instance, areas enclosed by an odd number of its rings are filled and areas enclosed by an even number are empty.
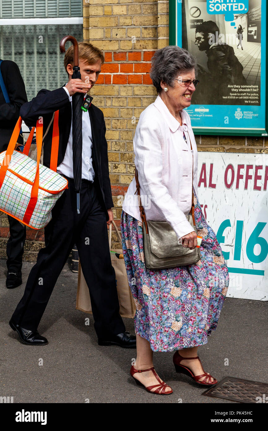
[[[46,130],[53,112],[59,110],[59,154],[57,172],[68,179],[68,189],[52,209],[52,220],[44,228],[45,245],[31,269],[25,293],[9,322],[25,344],[43,345],[48,341],[37,332],[53,287],[74,244],[77,245],[81,268],[92,303],[94,327],[100,345],[117,344],[135,347],[136,337],[125,331],[119,315],[119,302],[114,268],[108,244],[107,225],[113,220],[113,200],[108,169],[105,121],[102,111],[92,103],[82,117],[82,185],[78,213],[74,186],[72,152],[71,97],[86,94],[101,72],[104,57],[91,44],[79,43],[81,79],[72,79],[73,47],[65,53],[68,83],[53,91],[40,90],[31,102],[25,103],[21,116],[26,125],[34,126],[43,118]],[[87,96],[88,97],[88,96]],[[90,102],[92,97],[90,97]],[[43,164],[49,167],[52,127],[43,147]]]

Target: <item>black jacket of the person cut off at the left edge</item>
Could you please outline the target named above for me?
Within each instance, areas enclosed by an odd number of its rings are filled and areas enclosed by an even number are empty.
[[[3,91],[0,87],[0,152],[8,147],[12,131],[18,121],[19,110],[23,103],[27,102],[25,85],[18,65],[14,61],[3,60],[1,72],[10,103],[6,103]],[[18,142],[23,144],[21,136]]]

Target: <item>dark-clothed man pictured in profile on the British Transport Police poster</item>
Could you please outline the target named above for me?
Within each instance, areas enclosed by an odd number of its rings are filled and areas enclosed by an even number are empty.
[[[195,44],[200,51],[205,51],[208,57],[210,104],[222,104],[223,97],[231,93],[228,85],[246,85],[246,78],[242,73],[243,66],[234,55],[234,48],[221,42],[219,27],[213,21],[205,21],[197,26]],[[224,103],[234,102],[225,99]]]

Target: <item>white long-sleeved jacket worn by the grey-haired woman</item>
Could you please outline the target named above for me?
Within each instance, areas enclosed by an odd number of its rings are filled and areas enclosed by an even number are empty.
[[[193,231],[185,217],[192,203],[192,154],[193,184],[197,194],[197,146],[189,114],[182,110],[180,115],[182,126],[158,95],[140,115],[133,140],[146,219],[168,222],[178,238]],[[183,130],[187,143],[183,139]],[[135,191],[134,177],[125,195],[123,210],[141,222]]]

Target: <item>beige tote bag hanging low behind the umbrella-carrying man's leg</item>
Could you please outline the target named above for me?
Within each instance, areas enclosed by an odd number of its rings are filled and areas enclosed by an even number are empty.
[[[114,223],[114,221],[112,223],[114,225],[118,240],[120,244],[122,244],[121,235],[117,229],[117,226]],[[111,233],[112,233],[112,225],[110,225],[110,231],[109,231],[110,250],[111,250]],[[116,251],[119,254],[123,254],[122,249],[116,249],[113,251]],[[112,253],[112,252],[111,252],[111,261],[114,267],[115,277],[117,280],[117,294],[118,294],[118,299],[120,304],[119,313],[122,317],[129,317],[133,319],[136,312],[136,306],[132,297],[131,290],[129,288],[129,283],[126,275],[125,261],[124,259],[118,259],[115,253]],[[80,260],[78,263],[76,309],[92,314],[89,289],[87,287],[86,280],[83,276]]]

